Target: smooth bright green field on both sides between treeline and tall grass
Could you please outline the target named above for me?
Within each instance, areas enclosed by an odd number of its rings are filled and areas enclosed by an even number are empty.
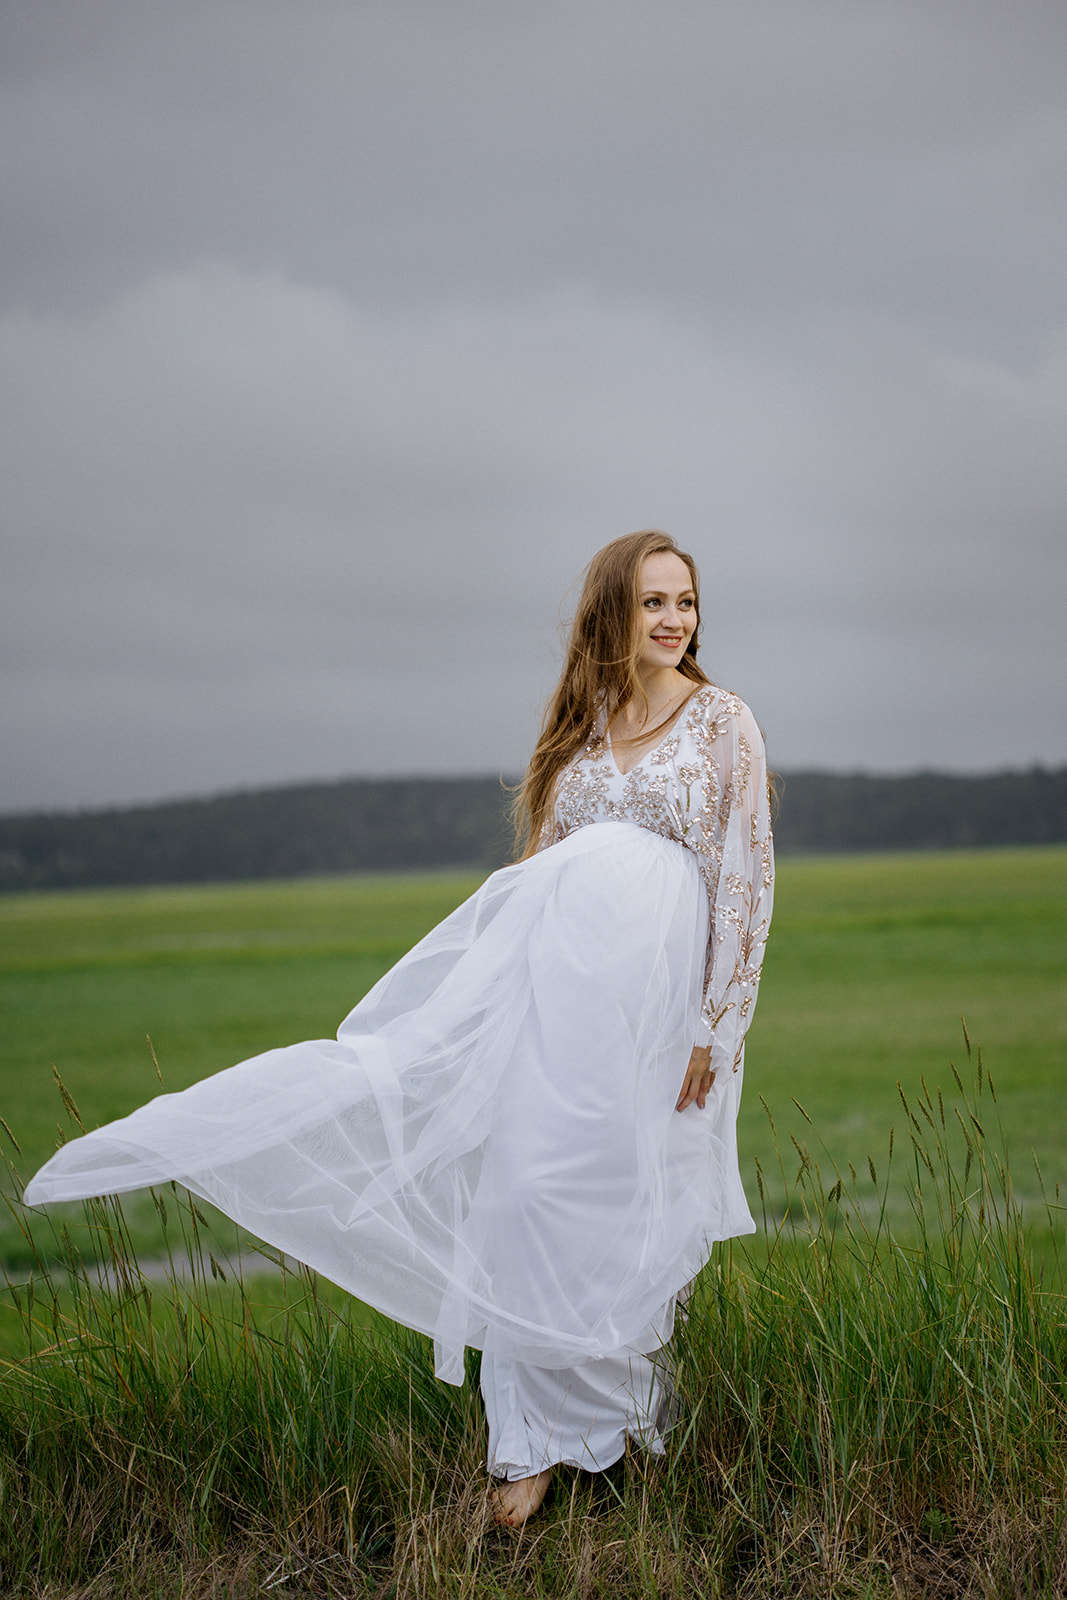
[[[328,1037],[374,979],[469,894],[477,877],[322,878],[0,899],[0,1115],[29,1174],[69,1122],[86,1126],[234,1061]],[[950,1086],[960,1018],[997,1083],[1013,1174],[1067,1181],[1067,850],[787,859],[749,1042],[739,1131],[774,1166],[793,1131],[824,1170],[881,1165],[904,1131],[897,1080]],[[798,1101],[811,1126],[793,1106]],[[790,1147],[792,1149],[792,1147]],[[134,1208],[138,1243],[149,1213]],[[0,1259],[19,1259],[11,1221]]]

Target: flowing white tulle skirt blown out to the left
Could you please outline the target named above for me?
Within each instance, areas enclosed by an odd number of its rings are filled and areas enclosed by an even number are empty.
[[[30,1205],[171,1179],[435,1341],[541,1368],[654,1350],[709,1242],[750,1232],[739,1072],[675,1099],[699,1014],[693,854],[630,822],[493,874],[336,1040],[74,1139]]]

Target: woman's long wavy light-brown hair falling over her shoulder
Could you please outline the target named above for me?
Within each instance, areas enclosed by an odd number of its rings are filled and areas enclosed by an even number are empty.
[[[605,544],[585,568],[577,611],[566,642],[560,682],[549,699],[541,738],[530,758],[512,806],[515,848],[531,856],[552,810],[555,782],[566,763],[590,738],[603,709],[608,722],[632,699],[645,699],[637,662],[643,629],[638,621],[641,562],[669,552],[689,568],[697,626],[678,662],[693,683],[709,678],[697,666],[701,637],[701,578],[696,562],[657,528],[625,533]],[[648,712],[648,701],[645,699]],[[664,723],[665,726],[665,723]],[[649,734],[654,730],[648,730]]]

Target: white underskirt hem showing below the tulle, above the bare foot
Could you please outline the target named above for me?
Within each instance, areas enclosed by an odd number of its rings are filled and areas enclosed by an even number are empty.
[[[664,1453],[672,1387],[664,1358],[617,1350],[582,1366],[528,1366],[482,1357],[490,1472],[530,1478],[552,1466],[603,1472],[627,1437]]]

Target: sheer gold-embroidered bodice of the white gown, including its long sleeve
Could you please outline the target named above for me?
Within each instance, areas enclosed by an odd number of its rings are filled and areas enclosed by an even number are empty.
[[[539,848],[593,822],[635,822],[696,856],[709,901],[697,1045],[737,1064],[771,923],[774,864],[763,736],[744,701],[697,690],[665,738],[621,773],[603,725],[565,768]]]

